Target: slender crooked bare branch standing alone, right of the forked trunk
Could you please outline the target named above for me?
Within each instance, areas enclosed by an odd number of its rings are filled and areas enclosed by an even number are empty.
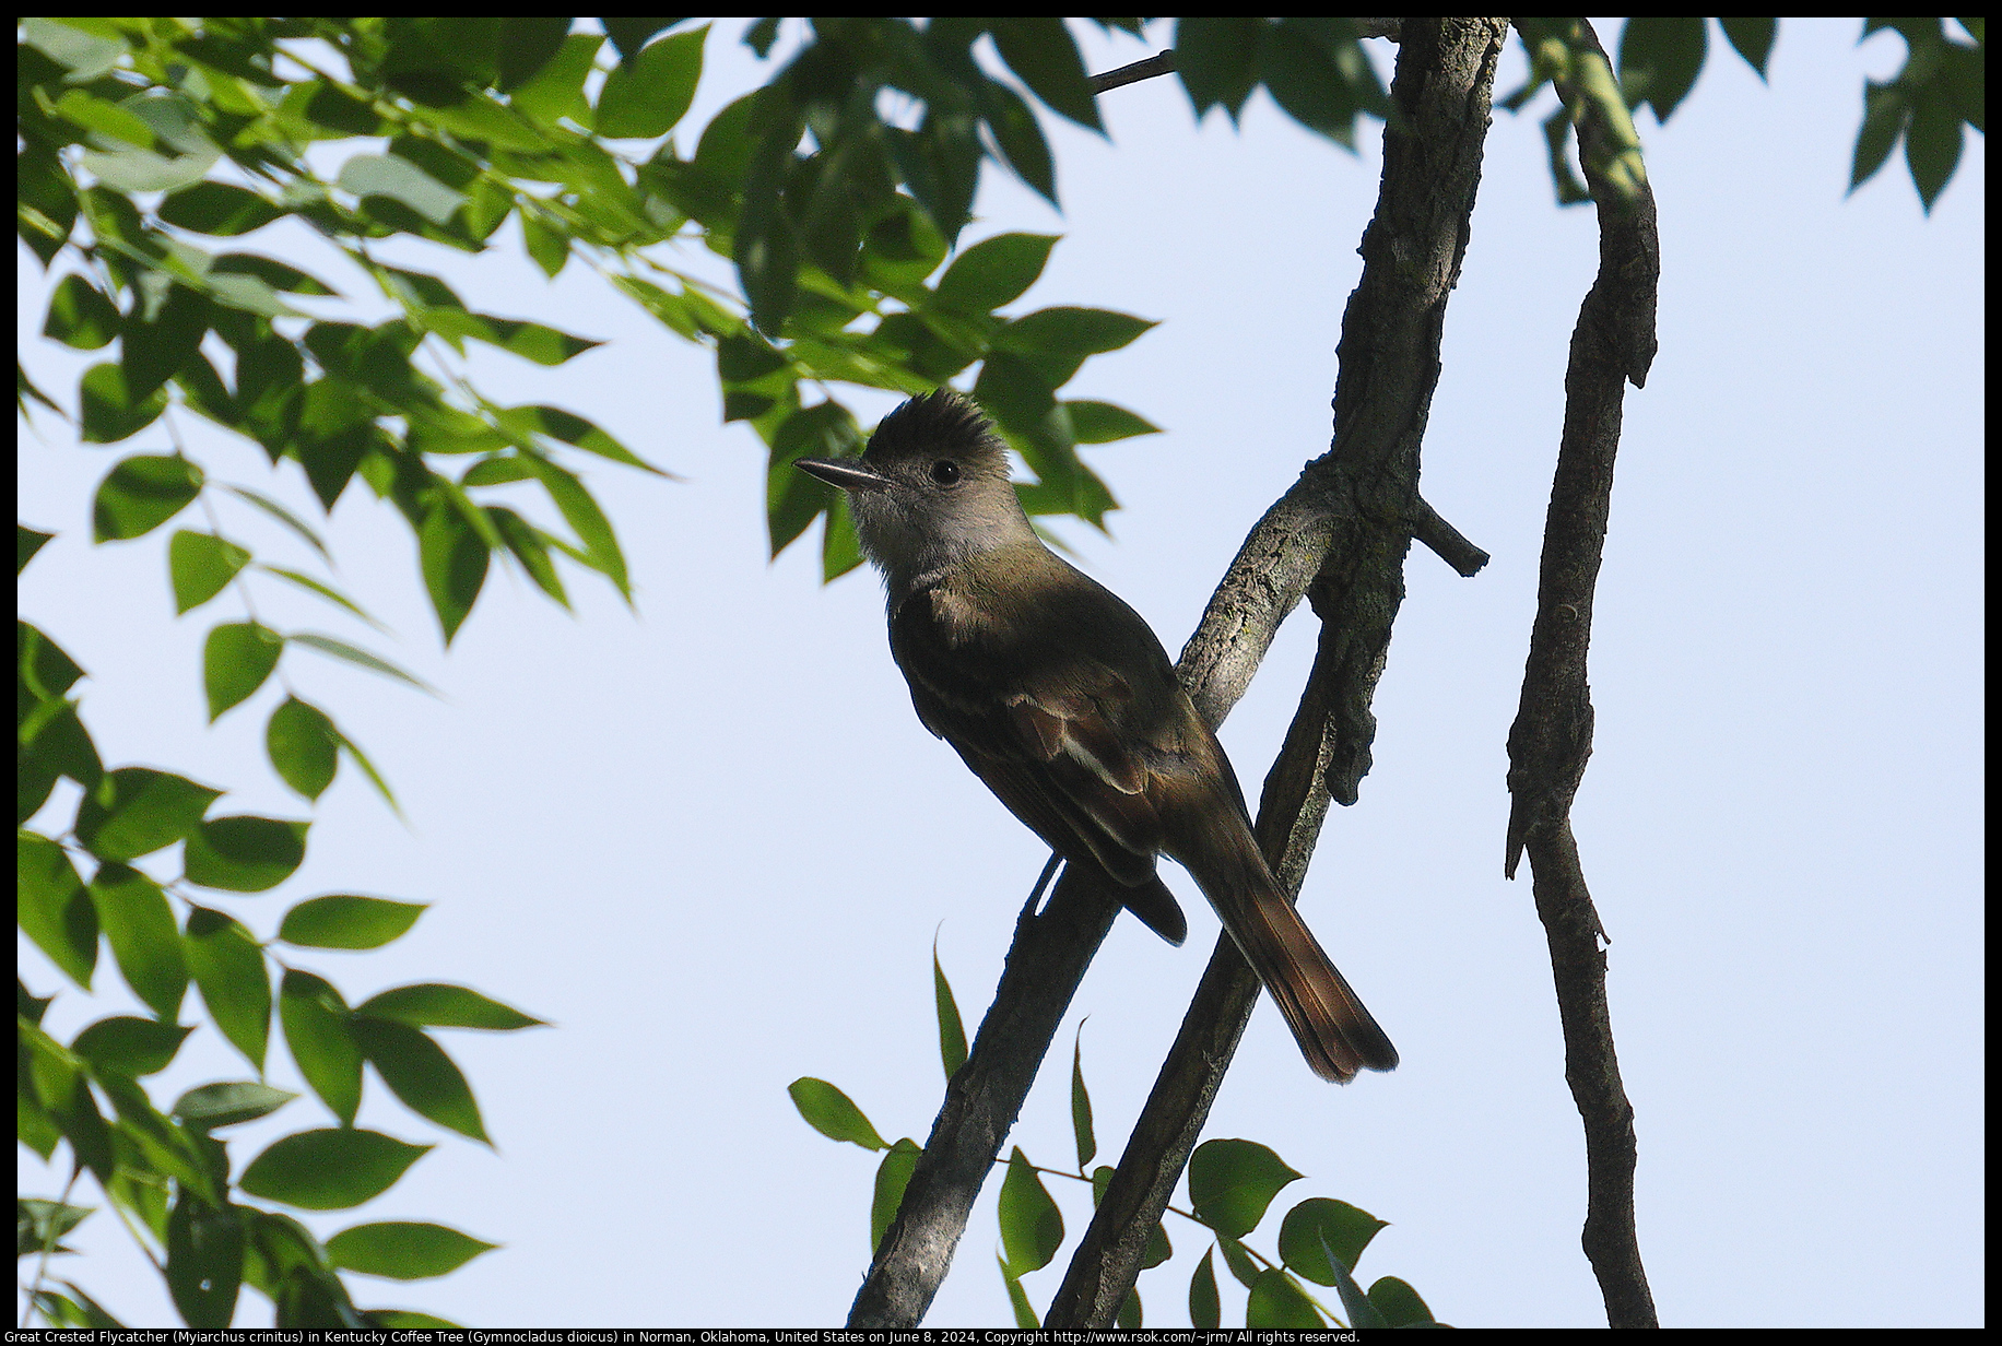
[[[1584,20],[1524,20],[1524,38],[1558,66],[1578,126],[1580,162],[1600,216],[1600,274],[1578,312],[1564,377],[1564,443],[1550,489],[1536,627],[1510,729],[1508,873],[1524,851],[1564,1028],[1564,1076],[1586,1128],[1584,1248],[1614,1328],[1654,1328],[1654,1296],[1634,1230],[1634,1106],[1620,1082],[1606,1005],[1606,937],[1572,835],[1572,797],[1592,757],[1586,651],[1606,543],[1626,383],[1654,359],[1662,270],[1654,194],[1606,52]]]

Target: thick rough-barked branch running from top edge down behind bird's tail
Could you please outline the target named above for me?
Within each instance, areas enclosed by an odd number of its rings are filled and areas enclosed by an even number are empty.
[[[1377,214],[1363,234],[1363,276],[1341,320],[1335,443],[1251,531],[1245,555],[1313,547],[1321,643],[1313,675],[1265,779],[1257,837],[1279,881],[1297,893],[1329,795],[1351,803],[1369,769],[1369,701],[1403,597],[1403,555],[1431,511],[1417,495],[1419,443],[1439,377],[1445,300],[1459,276],[1487,136],[1487,98],[1508,36],[1504,18],[1407,18],[1391,96],[1403,118],[1383,134]],[[1315,525],[1313,543],[1295,531]],[[1427,543],[1477,569],[1477,549],[1425,523]],[[1321,543],[1319,539],[1327,541]],[[1463,539],[1459,539],[1463,543]],[[1447,555],[1453,561],[1451,555]],[[1485,559],[1485,557],[1481,557]],[[1291,607],[1249,569],[1225,577],[1181,675],[1197,707],[1235,699],[1263,643],[1233,615]],[[1269,633],[1267,637],[1269,639]],[[1133,1290],[1147,1234],[1187,1164],[1223,1072],[1257,1003],[1259,983],[1229,937],[1203,973],[1119,1170],[1071,1258],[1045,1326],[1103,1328]]]

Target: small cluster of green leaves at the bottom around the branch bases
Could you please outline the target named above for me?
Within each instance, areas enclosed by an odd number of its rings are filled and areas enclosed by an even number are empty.
[[[967,1062],[967,1034],[959,1003],[937,951],[931,959],[933,1001],[939,1020],[939,1060],[945,1078]],[[895,1144],[883,1140],[863,1110],[827,1080],[805,1076],[789,1086],[793,1106],[807,1126],[829,1140],[841,1140],[883,1154],[877,1166],[875,1200],[869,1206],[869,1246],[877,1248],[897,1218],[905,1186],[917,1168],[923,1148],[909,1136]],[[1007,1288],[1017,1328],[1043,1326],[1021,1280],[1049,1266],[1063,1248],[1063,1212],[1051,1198],[1045,1178],[1063,1178],[1091,1188],[1093,1208],[1103,1200],[1113,1170],[1091,1166],[1099,1154],[1091,1118],[1091,1092],[1085,1088],[1083,1038],[1071,1048],[1071,1138],[1077,1146],[1077,1168],[1041,1168],[1015,1146],[1007,1158],[997,1206],[1001,1250],[995,1260]],[[1273,1198],[1297,1182],[1301,1174],[1289,1168],[1271,1148],[1253,1140],[1205,1140],[1189,1156],[1187,1206],[1169,1212],[1201,1228],[1211,1240],[1201,1264],[1189,1276],[1189,1324],[1217,1328],[1223,1322],[1217,1294],[1217,1256],[1225,1270],[1245,1288],[1247,1328],[1429,1328],[1431,1310],[1403,1280],[1377,1278],[1367,1290],[1355,1282],[1355,1262],[1377,1230],[1387,1228],[1375,1216],[1325,1196],[1297,1202],[1279,1220],[1277,1256],[1267,1256],[1245,1240],[1265,1224]],[[1267,1232],[1269,1226],[1267,1226]],[[1155,1224],[1147,1238],[1141,1270],[1149,1272],[1175,1256],[1167,1230]],[[1335,1290],[1339,1308],[1323,1304],[1307,1284]],[[1117,1326],[1143,1326],[1143,1308],[1135,1288],[1119,1306]]]

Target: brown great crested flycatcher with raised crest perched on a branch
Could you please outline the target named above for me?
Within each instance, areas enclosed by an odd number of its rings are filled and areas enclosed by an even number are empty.
[[[1271,991],[1315,1074],[1391,1070],[1397,1050],[1279,889],[1217,735],[1147,623],[1049,551],[981,413],[941,389],[893,411],[859,459],[799,459],[847,491],[889,591],[889,647],[917,717],[1015,817],[1169,943],[1155,873],[1179,861]]]

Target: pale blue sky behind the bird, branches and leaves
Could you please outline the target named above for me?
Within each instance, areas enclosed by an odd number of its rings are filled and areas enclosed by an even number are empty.
[[[1083,26],[1079,28],[1085,30]],[[1616,26],[1602,24],[1608,44]],[[1932,218],[1902,162],[1844,198],[1866,72],[1856,20],[1786,20],[1772,86],[1714,42],[1664,130],[1642,124],[1662,218],[1662,351],[1630,391],[1600,581],[1596,753],[1576,807],[1612,933],[1612,1012],[1640,1134],[1640,1236],[1666,1326],[1982,1322],[1982,439],[1984,144]],[[1091,44],[1093,68],[1133,60]],[[759,78],[711,38],[691,124]],[[1510,54],[1499,80],[1520,82]],[[1548,102],[1550,94],[1544,94]],[[1351,158],[1263,98],[1243,128],[1193,128],[1169,80],[1103,98],[1111,144],[1045,118],[1065,214],[989,174],[975,240],[1063,232],[1023,308],[1121,308],[1161,326],[1091,361],[1075,395],[1167,435],[1087,451],[1125,509],[1113,539],[1065,529],[1081,563],[1177,651],[1245,529],[1327,441],[1333,345],[1375,198]],[[1337,1090],[1279,1018],[1251,1022],[1207,1136],[1271,1144],[1305,1182],[1389,1220],[1363,1280],[1409,1280],[1459,1326],[1604,1322],[1578,1250],[1584,1164],[1530,883],[1501,879],[1504,739],[1516,711],[1544,503],[1590,212],[1552,204],[1544,102],[1495,114],[1465,272],[1445,326],[1425,493],[1493,553],[1477,579],[1415,549],[1377,695],[1375,771],[1337,809],[1301,899],[1403,1066]],[[252,242],[358,292],[298,238]],[[322,799],[304,869],[224,899],[260,933],[290,901],[364,891],[436,903],[382,953],[292,951],[350,999],[382,985],[476,985],[557,1028],[452,1034],[498,1154],[386,1102],[362,1124],[438,1142],[360,1212],[438,1220],[505,1250],[364,1304],[474,1326],[827,1326],[867,1264],[875,1162],[811,1132],[785,1086],[823,1076],[891,1138],[929,1130],[941,1076],[933,933],[969,1030],[987,1001],[1037,841],[915,721],[873,579],[823,589],[817,549],[765,557],[763,451],[719,427],[709,357],[611,298],[583,266],[557,284],[513,226],[466,260],[398,244],[478,306],[609,345],[547,371],[480,353],[505,401],[585,413],[663,483],[589,467],[633,567],[639,615],[571,581],[577,617],[515,577],[488,581],[448,657],[408,533],[362,489],[330,525],[340,581],[396,631],[384,653],[444,703],[292,653],[396,783],[396,823],[350,771]],[[26,252],[20,254],[26,258]],[[330,272],[330,274],[328,274]],[[46,284],[22,260],[30,373],[74,397],[88,359],[36,339]],[[865,423],[889,399],[851,399]],[[62,537],[22,613],[88,671],[84,711],[112,763],[232,789],[232,811],[304,815],[262,763],[266,689],[202,725],[198,645],[230,599],[174,621],[162,529],[90,547],[88,493],[152,429],[76,449],[22,439],[22,519]],[[310,499],[296,469],[204,435],[216,477]],[[246,513],[230,531],[282,565],[296,545]],[[328,609],[260,591],[270,625],[354,637]],[[1313,649],[1301,609],[1223,729],[1257,791]],[[1191,937],[1115,925],[1059,1034],[1077,1022],[1101,1154],[1117,1158],[1215,937],[1179,873]],[[22,943],[38,993],[56,973]],[[68,1038],[122,1010],[108,971],[50,1010]],[[190,1014],[196,1001],[190,999]],[[240,1078],[196,1034],[162,1092]],[[272,1080],[290,1080],[272,1052]],[[1013,1138],[1071,1158],[1063,1070]],[[294,1084],[296,1088],[296,1084]],[[324,1124],[302,1098],[240,1128]],[[260,1140],[262,1138],[262,1140]],[[28,1156],[24,1192],[52,1196]],[[1069,1184],[1075,1186],[1075,1184]],[[1069,1228],[1089,1200],[1057,1188]],[[100,1204],[96,1194],[82,1196]],[[993,1194],[929,1322],[1003,1326]],[[1275,1220],[1273,1220],[1275,1224]],[[1205,1242],[1141,1280],[1151,1324],[1185,1318]],[[64,1266],[130,1324],[170,1326],[164,1292],[108,1214]],[[1271,1234],[1253,1236],[1271,1248]],[[1065,1254],[1067,1256],[1067,1254]],[[1061,1264],[1027,1280],[1047,1304]],[[1225,1322],[1243,1292],[1225,1278]],[[268,1322],[246,1296],[240,1322]]]

